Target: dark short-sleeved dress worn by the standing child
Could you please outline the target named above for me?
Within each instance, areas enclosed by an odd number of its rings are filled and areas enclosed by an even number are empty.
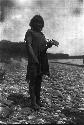
[[[28,41],[29,39],[29,41]],[[25,35],[26,46],[32,46],[33,51],[38,58],[39,65],[36,65],[28,52],[27,79],[35,78],[38,75],[49,74],[48,58],[46,53],[46,39],[42,32],[35,32],[29,29]]]

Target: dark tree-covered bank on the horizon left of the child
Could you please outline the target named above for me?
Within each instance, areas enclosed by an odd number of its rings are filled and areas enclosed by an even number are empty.
[[[3,40],[0,42],[0,55],[25,56],[26,48],[23,42],[10,42]]]

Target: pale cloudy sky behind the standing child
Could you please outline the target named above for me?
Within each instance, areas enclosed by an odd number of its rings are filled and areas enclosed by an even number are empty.
[[[0,40],[23,41],[35,14],[44,18],[45,37],[59,42],[48,52],[84,54],[83,0],[0,0]]]

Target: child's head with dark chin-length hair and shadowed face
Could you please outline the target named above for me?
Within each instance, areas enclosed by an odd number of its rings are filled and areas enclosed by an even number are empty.
[[[40,15],[35,15],[31,19],[29,25],[31,26],[31,28],[33,28],[33,30],[39,32],[44,27],[44,20],[43,20],[43,18]]]

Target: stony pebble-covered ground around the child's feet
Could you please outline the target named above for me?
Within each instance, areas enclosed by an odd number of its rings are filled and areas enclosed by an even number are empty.
[[[27,62],[11,60],[2,64],[5,73],[0,73],[1,124],[84,123],[84,68],[51,62],[49,65],[51,76],[43,76],[42,81],[44,107],[35,112],[30,108],[25,81]]]

